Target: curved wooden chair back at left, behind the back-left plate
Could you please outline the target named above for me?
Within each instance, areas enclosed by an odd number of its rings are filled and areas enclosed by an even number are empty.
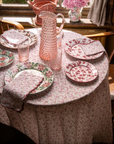
[[[2,34],[4,31],[9,30],[11,28],[24,30],[24,27],[19,22],[0,20],[0,34]]]

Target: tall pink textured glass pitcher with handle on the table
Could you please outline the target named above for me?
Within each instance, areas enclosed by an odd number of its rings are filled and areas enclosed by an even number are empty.
[[[62,24],[56,28],[56,18],[62,17]],[[62,14],[54,14],[48,11],[42,11],[39,15],[42,18],[42,31],[40,41],[39,56],[41,59],[50,60],[57,55],[57,35],[62,31],[64,26],[64,16]]]

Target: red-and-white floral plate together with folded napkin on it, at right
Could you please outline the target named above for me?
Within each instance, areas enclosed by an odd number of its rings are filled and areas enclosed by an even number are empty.
[[[82,60],[97,59],[105,52],[104,47],[98,40],[86,37],[70,40],[66,43],[65,51],[70,56]]]

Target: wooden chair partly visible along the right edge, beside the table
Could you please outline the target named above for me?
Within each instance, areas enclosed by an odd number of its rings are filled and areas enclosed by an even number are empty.
[[[91,38],[91,39],[114,36],[114,31],[85,35],[85,36],[88,38]],[[111,54],[109,55],[109,87],[110,87],[111,100],[114,100],[114,64],[111,63],[113,55],[114,55],[114,49],[112,50]]]

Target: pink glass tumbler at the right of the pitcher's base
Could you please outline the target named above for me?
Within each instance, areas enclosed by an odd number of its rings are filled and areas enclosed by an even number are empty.
[[[60,70],[62,63],[62,47],[57,48],[57,55],[50,60],[50,68],[52,70]]]

